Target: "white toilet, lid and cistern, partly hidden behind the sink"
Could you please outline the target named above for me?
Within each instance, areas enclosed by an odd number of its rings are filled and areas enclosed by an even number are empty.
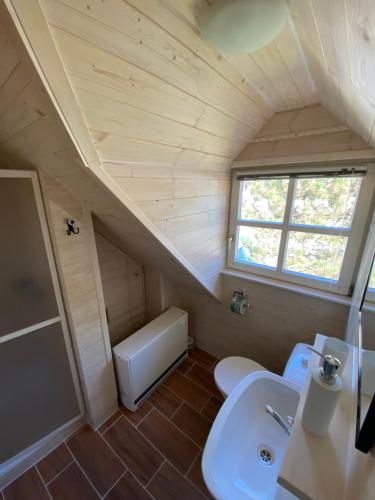
[[[283,376],[297,384],[301,389],[304,386],[307,376],[308,362],[311,351],[308,344],[296,344],[289,356]],[[241,356],[230,356],[224,358],[215,367],[214,377],[216,385],[227,398],[236,385],[252,372],[265,370],[267,368],[259,363]]]

